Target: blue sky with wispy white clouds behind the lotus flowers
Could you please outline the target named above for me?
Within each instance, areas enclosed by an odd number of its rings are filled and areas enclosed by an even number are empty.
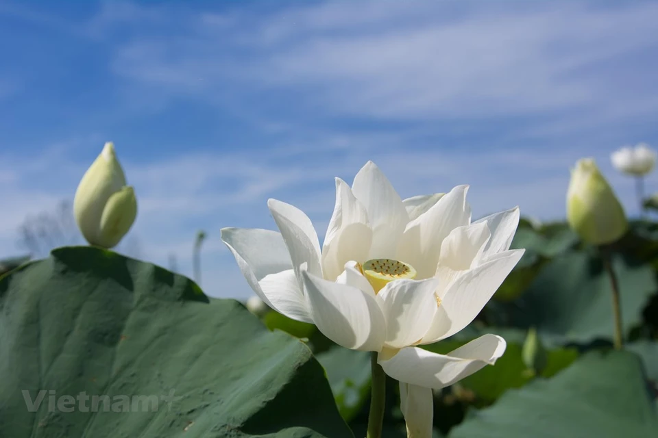
[[[191,274],[206,230],[212,296],[251,294],[222,227],[273,229],[278,198],[322,236],[333,177],[369,159],[403,198],[467,183],[474,216],[549,220],[592,156],[635,215],[609,154],[658,146],[657,22],[650,1],[0,0],[0,257],[106,141],[142,257]]]

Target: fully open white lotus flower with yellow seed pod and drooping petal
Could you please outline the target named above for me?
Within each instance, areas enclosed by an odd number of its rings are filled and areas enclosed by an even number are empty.
[[[431,436],[432,409],[416,407],[431,403],[432,388],[493,364],[506,347],[502,337],[484,335],[448,355],[417,348],[470,324],[523,254],[509,250],[518,208],[471,222],[467,189],[402,201],[368,162],[352,188],[336,179],[322,247],[308,216],[274,199],[268,206],[280,233],[221,230],[267,305],[345,348],[379,353],[378,363],[400,381],[415,437]]]

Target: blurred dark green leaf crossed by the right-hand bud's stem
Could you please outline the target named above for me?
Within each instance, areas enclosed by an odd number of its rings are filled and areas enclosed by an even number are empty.
[[[657,289],[653,269],[617,255],[624,331],[642,322],[642,309]],[[541,269],[518,300],[499,311],[511,326],[537,329],[564,342],[586,343],[611,339],[613,333],[611,286],[598,256],[570,251]]]

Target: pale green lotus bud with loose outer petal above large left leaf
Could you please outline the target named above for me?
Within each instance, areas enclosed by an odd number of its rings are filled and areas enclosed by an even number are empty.
[[[132,227],[137,200],[133,188],[125,183],[111,142],[105,144],[77,186],[73,214],[86,241],[103,248],[117,246]]]

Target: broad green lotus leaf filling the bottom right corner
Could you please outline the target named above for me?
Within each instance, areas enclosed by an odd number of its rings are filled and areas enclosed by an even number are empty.
[[[642,364],[631,352],[593,351],[572,366],[475,411],[450,438],[657,437]]]

